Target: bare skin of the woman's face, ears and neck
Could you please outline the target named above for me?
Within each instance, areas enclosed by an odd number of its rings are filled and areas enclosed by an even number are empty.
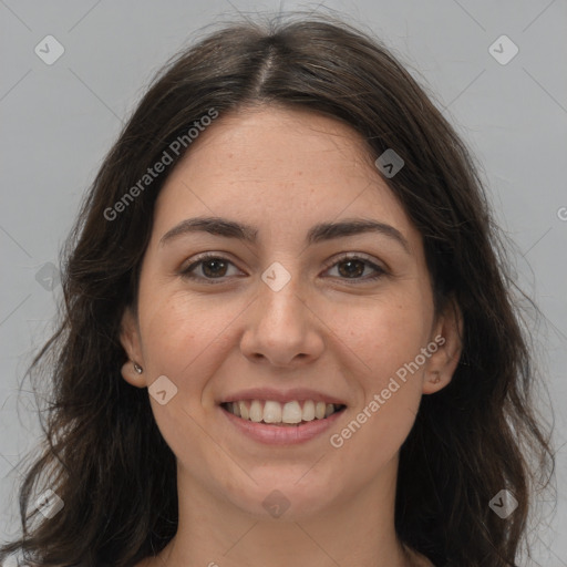
[[[194,233],[161,245],[186,218],[252,225],[258,243]],[[307,246],[312,225],[346,218],[395,227],[409,251],[368,233]],[[200,252],[228,264],[187,279]],[[386,270],[349,278],[344,252]],[[274,261],[291,279],[274,291]],[[342,270],[340,269],[342,266]],[[213,274],[213,276],[210,276]],[[220,281],[219,284],[207,284]],[[357,279],[358,278],[358,279]],[[359,135],[315,113],[260,106],[223,115],[194,142],[165,183],[140,280],[137,312],[123,317],[131,362],[124,379],[147,388],[166,375],[177,393],[157,425],[177,458],[176,537],[138,567],[341,567],[431,565],[394,532],[400,446],[423,394],[446,386],[458,361],[458,309],[435,317],[422,238],[364,153]],[[441,334],[443,346],[340,449],[329,443],[404,363]],[[143,368],[137,374],[135,361]],[[268,446],[231,425],[217,401],[252,386],[311,388],[344,400],[315,440]],[[262,501],[280,491],[279,518]]]

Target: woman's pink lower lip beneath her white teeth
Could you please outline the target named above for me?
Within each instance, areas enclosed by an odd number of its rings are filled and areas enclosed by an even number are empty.
[[[305,443],[324,433],[344,413],[343,409],[323,420],[315,419],[301,425],[269,425],[267,423],[243,420],[224,408],[219,406],[219,409],[241,433],[266,445],[297,445],[298,443]]]

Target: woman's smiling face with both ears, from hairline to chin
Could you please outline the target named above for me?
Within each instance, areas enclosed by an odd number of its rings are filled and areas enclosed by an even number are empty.
[[[358,134],[261,107],[220,116],[165,183],[123,319],[144,371],[123,375],[151,386],[178,483],[264,517],[277,489],[301,517],[391,482],[422,394],[451,380],[455,326]],[[264,423],[282,419],[301,422]]]

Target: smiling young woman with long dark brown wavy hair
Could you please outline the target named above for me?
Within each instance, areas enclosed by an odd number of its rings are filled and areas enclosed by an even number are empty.
[[[513,284],[464,144],[375,39],[290,19],[181,53],[72,236],[38,523],[4,551],[518,565],[553,454]]]

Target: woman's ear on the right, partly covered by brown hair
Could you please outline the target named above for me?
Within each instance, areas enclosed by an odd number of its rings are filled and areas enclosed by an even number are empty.
[[[445,303],[433,326],[430,346],[436,344],[423,377],[423,393],[433,394],[445,388],[453,379],[463,350],[463,316],[452,297]]]

